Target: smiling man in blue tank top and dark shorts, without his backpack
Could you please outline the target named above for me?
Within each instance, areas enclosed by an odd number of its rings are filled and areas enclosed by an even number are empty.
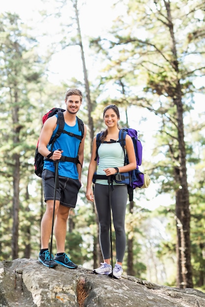
[[[83,95],[78,89],[69,89],[65,94],[66,109],[63,112],[64,130],[74,135],[81,136],[76,114],[82,104]],[[81,172],[84,160],[84,144],[86,137],[86,126],[84,125],[83,139],[67,134],[65,131],[56,139],[51,152],[51,145],[48,146],[51,138],[58,130],[57,115],[46,120],[39,137],[38,151],[44,157],[44,168],[42,172],[44,197],[46,211],[41,221],[41,250],[38,260],[45,266],[55,267],[59,264],[70,269],[78,266],[73,263],[65,253],[66,226],[70,208],[75,208],[77,196],[81,187]],[[78,157],[79,162],[59,161],[59,187],[56,191],[55,203],[55,224],[54,234],[56,237],[57,254],[54,258],[49,253],[49,240],[52,232],[52,220],[54,209],[54,187],[55,187],[55,165],[54,161],[61,157]]]

